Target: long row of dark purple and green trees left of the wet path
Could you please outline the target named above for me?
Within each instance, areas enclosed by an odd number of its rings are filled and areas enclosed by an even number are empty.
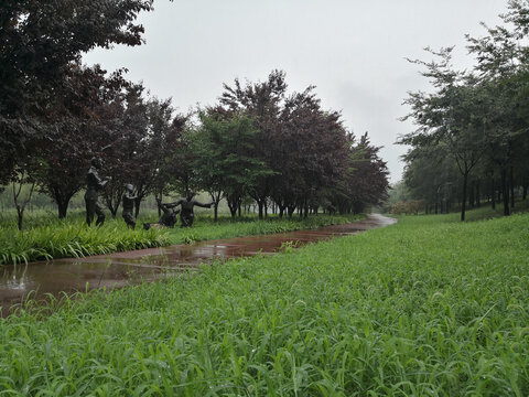
[[[188,189],[228,203],[231,216],[251,200],[259,216],[323,208],[361,212],[386,198],[388,170],[367,133],[356,139],[341,115],[324,110],[314,87],[287,93],[285,75],[224,85],[218,103],[195,114],[145,95],[141,84],[82,64],[95,46],[138,45],[138,12],[151,1],[60,0],[0,7],[0,185],[23,211],[37,190],[67,215],[85,187],[91,157],[110,176],[102,201],[116,216],[123,185],[137,187],[136,215],[149,194]],[[30,192],[25,197],[20,186]]]

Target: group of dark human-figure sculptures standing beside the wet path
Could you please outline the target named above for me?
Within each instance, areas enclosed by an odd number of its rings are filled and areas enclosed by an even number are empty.
[[[102,205],[99,203],[99,191],[105,189],[109,179],[101,179],[99,176],[99,170],[102,168],[102,160],[100,158],[93,158],[90,160],[90,168],[86,175],[86,223],[88,226],[94,222],[94,217],[97,215],[96,226],[100,226],[105,223],[105,213],[102,212]],[[196,206],[209,208],[213,203],[203,204],[196,201],[196,193],[187,191],[185,197],[177,200],[174,203],[162,203],[156,198],[159,208],[163,212],[160,221],[156,223],[144,223],[143,228],[149,229],[152,226],[161,227],[174,227],[176,224],[176,215],[180,213],[180,222],[182,227],[193,226],[194,213],[193,208]],[[134,208],[134,201],[138,196],[134,194],[134,187],[131,184],[125,185],[125,193],[121,197],[123,211],[121,213],[127,226],[131,229],[136,228],[136,218],[132,214]],[[180,206],[180,210],[177,208]]]

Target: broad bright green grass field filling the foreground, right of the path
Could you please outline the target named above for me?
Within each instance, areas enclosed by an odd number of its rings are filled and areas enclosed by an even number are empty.
[[[4,396],[527,396],[529,215],[357,236],[0,320]]]

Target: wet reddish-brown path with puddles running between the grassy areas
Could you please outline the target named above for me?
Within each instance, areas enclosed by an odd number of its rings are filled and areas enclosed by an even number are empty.
[[[0,270],[0,314],[7,315],[23,304],[28,294],[40,299],[46,294],[58,297],[63,292],[73,293],[104,287],[121,288],[182,271],[192,271],[201,264],[215,259],[257,254],[273,255],[285,245],[300,247],[336,236],[354,235],[388,226],[395,222],[396,219],[371,214],[352,224],[313,230],[206,240],[193,245],[4,266]]]

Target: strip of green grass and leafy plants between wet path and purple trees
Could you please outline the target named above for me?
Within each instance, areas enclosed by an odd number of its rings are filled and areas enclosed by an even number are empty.
[[[28,228],[19,232],[14,214],[8,214],[0,216],[0,265],[315,228],[347,223],[358,217],[319,215],[307,219],[269,217],[258,221],[252,216],[238,222],[220,217],[218,223],[214,223],[210,216],[202,214],[192,228],[143,230],[143,222],[158,218],[158,213],[151,211],[138,219],[136,230],[130,230],[120,216],[107,219],[102,227],[88,227],[82,211],[68,215],[64,221],[57,219],[54,214],[37,212],[28,216]]]

